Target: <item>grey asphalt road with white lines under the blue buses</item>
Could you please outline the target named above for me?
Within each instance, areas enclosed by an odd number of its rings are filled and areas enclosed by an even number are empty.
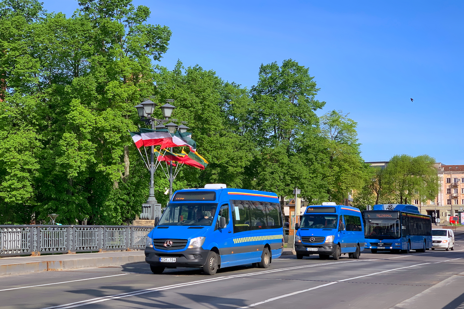
[[[455,251],[365,250],[359,260],[342,255],[339,261],[290,256],[273,260],[268,269],[245,265],[215,276],[186,268],[154,275],[144,263],[3,276],[0,307],[388,309],[461,272],[464,241],[458,236]],[[450,302],[461,303],[463,295],[430,308],[458,308]]]

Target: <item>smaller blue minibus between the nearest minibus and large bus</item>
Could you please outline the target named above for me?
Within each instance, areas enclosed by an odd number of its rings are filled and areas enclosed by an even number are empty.
[[[338,260],[342,253],[348,253],[350,259],[359,259],[364,250],[361,222],[358,208],[336,205],[335,202],[308,206],[300,226],[296,224],[295,228],[296,258],[319,254],[320,259],[332,256]]]

